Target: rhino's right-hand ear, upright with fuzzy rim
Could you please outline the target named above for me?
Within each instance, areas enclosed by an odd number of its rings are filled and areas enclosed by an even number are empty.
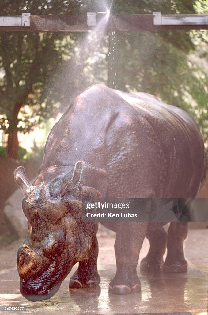
[[[51,196],[56,198],[60,195],[65,194],[67,191],[72,190],[76,185],[78,185],[81,175],[83,175],[83,170],[86,164],[83,161],[78,161],[75,164],[73,173],[69,171],[61,179],[57,180],[50,186]]]

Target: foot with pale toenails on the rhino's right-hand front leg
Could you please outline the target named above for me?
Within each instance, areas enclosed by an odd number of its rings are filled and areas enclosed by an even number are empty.
[[[130,294],[141,292],[141,282],[136,273],[135,268],[125,270],[119,270],[117,266],[117,272],[115,278],[109,284],[109,292],[113,294]]]

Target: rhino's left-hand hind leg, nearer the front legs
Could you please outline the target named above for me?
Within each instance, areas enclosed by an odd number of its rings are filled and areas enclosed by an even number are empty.
[[[163,255],[167,246],[167,226],[161,226],[156,230],[147,230],[147,239],[150,249],[140,263],[142,273],[157,272],[163,268]]]

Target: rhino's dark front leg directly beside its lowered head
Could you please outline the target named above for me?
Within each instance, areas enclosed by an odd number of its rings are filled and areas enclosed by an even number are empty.
[[[79,261],[77,271],[72,275],[69,288],[93,288],[100,283],[97,270],[98,240],[95,237],[88,254],[88,259]]]

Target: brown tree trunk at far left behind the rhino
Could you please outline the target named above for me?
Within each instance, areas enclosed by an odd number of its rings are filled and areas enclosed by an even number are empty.
[[[15,160],[18,159],[18,131],[17,131],[17,124],[18,124],[18,113],[20,108],[23,106],[22,102],[18,102],[15,104],[13,113],[11,118],[9,118],[9,128],[8,128],[8,142],[7,142],[7,157],[13,158]]]

